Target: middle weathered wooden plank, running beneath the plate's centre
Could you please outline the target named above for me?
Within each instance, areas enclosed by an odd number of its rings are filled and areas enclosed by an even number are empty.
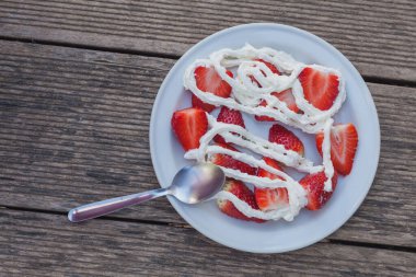
[[[148,126],[174,60],[0,42],[0,205],[67,211],[158,187]],[[415,246],[416,90],[369,83],[382,150],[365,204],[332,239]],[[117,217],[183,224],[165,199]]]

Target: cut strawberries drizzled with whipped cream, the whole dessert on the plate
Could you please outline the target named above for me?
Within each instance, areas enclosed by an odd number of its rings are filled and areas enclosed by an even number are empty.
[[[185,71],[184,86],[192,92],[192,107],[172,115],[172,129],[185,159],[212,162],[224,171],[228,180],[216,197],[226,215],[254,222],[291,221],[302,208],[323,207],[338,174],[351,172],[358,135],[353,124],[334,123],[346,99],[336,69],[245,45],[195,60]],[[268,138],[251,132],[242,113],[269,128]],[[322,164],[304,157],[309,149],[287,126],[315,136]],[[287,168],[304,176],[294,180]]]

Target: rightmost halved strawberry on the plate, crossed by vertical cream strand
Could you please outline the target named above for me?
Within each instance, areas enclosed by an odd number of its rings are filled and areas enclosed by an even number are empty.
[[[324,134],[316,134],[316,148],[322,155]],[[337,124],[331,129],[331,160],[335,170],[343,175],[351,172],[358,145],[357,129],[353,124]]]

